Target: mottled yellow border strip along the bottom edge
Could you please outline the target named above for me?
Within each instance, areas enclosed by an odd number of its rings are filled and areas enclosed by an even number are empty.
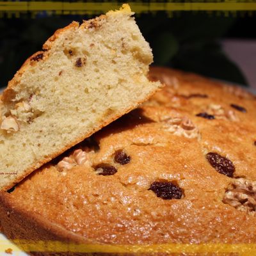
[[[26,252],[77,252],[77,253],[238,253],[238,255],[256,255],[256,244],[75,244],[58,241],[0,240],[0,248],[13,248],[13,252],[22,252],[13,242]]]

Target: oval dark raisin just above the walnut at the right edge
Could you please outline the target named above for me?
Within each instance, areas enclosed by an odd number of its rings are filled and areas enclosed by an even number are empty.
[[[217,172],[233,177],[235,166],[229,159],[213,152],[208,153],[206,159]]]

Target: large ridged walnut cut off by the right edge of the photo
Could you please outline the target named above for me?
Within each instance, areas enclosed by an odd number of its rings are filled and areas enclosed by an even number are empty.
[[[239,211],[256,214],[256,181],[243,178],[235,179],[227,189],[222,200]]]

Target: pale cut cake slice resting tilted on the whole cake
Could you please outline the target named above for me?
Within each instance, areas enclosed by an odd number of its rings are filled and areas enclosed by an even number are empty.
[[[148,99],[152,51],[129,5],[72,22],[31,56],[1,97],[0,189]]]

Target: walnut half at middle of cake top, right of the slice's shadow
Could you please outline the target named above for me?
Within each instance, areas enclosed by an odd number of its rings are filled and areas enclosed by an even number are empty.
[[[186,116],[166,118],[161,120],[164,123],[167,131],[172,132],[177,136],[184,136],[186,138],[199,138],[199,131],[193,124],[193,122]]]

